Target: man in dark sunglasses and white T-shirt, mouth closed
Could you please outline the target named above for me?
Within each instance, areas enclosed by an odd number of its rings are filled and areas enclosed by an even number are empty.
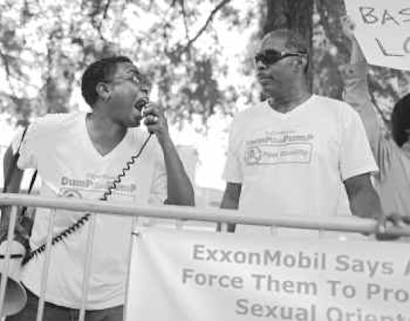
[[[382,222],[370,182],[378,168],[361,120],[345,102],[311,94],[308,52],[307,42],[293,31],[263,37],[255,64],[267,99],[233,120],[221,207],[261,218],[333,216],[342,208],[344,186],[353,215]],[[237,226],[236,232],[255,228]],[[295,232],[306,231],[278,233]]]

